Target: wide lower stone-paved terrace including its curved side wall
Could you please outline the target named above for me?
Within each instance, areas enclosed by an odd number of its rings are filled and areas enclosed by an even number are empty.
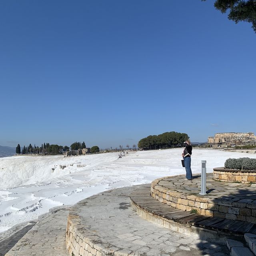
[[[225,246],[170,231],[138,216],[129,198],[135,187],[104,192],[72,207],[67,236],[70,256],[228,255]]]

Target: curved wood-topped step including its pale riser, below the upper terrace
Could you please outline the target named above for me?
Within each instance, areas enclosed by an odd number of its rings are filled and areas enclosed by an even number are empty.
[[[183,195],[186,196],[185,193]],[[256,225],[254,223],[191,214],[189,211],[168,206],[150,196],[150,188],[136,188],[131,193],[130,198],[132,206],[138,214],[152,221],[161,221],[164,226],[168,226],[172,230],[175,230],[175,228],[180,229],[181,225],[179,224],[182,224],[183,229],[187,228],[186,232],[197,233],[197,228],[201,228],[206,236],[210,236],[212,231],[218,233],[218,236],[214,236],[215,238],[221,238],[222,236],[223,239],[226,239],[240,236],[242,240],[247,232],[256,234]],[[151,218],[151,216],[154,216],[154,218]],[[225,243],[224,240],[222,242]]]

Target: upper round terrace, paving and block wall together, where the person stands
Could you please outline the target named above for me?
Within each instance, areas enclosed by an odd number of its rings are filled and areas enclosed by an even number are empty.
[[[200,196],[201,177],[164,177],[151,185],[153,198],[184,211],[256,223],[256,184],[220,182],[207,174],[206,195]]]

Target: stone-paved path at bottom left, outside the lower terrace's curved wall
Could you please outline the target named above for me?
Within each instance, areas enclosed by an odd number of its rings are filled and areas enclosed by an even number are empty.
[[[5,256],[68,256],[65,245],[68,210],[57,210],[40,220]]]

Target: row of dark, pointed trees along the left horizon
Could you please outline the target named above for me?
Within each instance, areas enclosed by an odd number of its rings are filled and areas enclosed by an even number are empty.
[[[80,148],[86,148],[86,145],[84,142],[74,142],[73,144],[71,144],[70,147],[63,147],[57,144],[50,145],[50,143],[44,143],[40,147],[36,146],[35,144],[34,146],[29,144],[29,146],[24,146],[23,148],[20,148],[20,144],[18,144],[16,147],[16,154],[59,154],[62,153],[63,151],[69,151],[70,148],[72,150],[78,150]]]

